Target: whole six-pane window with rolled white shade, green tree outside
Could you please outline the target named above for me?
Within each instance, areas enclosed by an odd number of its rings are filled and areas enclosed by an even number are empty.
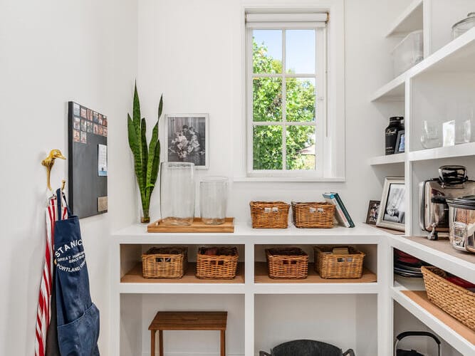
[[[246,14],[248,177],[338,175],[328,145],[327,19]]]

